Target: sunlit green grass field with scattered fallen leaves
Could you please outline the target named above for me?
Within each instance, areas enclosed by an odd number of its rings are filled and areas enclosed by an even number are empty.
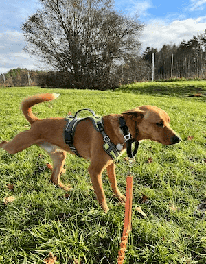
[[[107,115],[143,104],[168,112],[171,127],[182,141],[172,146],[152,141],[140,144],[132,169],[133,228],[124,263],[206,263],[205,81],[130,84],[116,91],[38,87],[0,91],[0,141],[30,128],[19,105],[35,93],[61,95],[34,106],[33,112],[40,118],[65,117],[80,108]],[[203,97],[188,97],[196,93]],[[14,155],[0,149],[0,263],[45,263],[49,252],[58,264],[117,263],[124,205],[113,197],[106,173],[102,178],[111,208],[107,214],[95,199],[87,160],[67,155],[62,181],[73,190],[66,197],[65,191],[49,182],[47,163],[52,163],[49,156],[36,146]],[[122,193],[127,172],[122,157],[117,163]],[[139,204],[142,194],[148,202]],[[15,200],[7,203],[5,197]],[[147,217],[139,216],[137,206]]]

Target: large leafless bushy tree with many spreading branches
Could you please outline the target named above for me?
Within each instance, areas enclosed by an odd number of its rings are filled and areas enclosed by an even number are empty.
[[[113,8],[113,0],[39,0],[42,9],[22,30],[25,50],[74,84],[111,86],[111,69],[139,49],[143,25]]]

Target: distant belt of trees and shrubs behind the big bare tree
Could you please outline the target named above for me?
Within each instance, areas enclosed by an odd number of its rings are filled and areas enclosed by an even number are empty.
[[[180,45],[163,45],[158,51],[147,47],[141,56],[130,56],[124,64],[115,67],[111,73],[115,88],[132,82],[152,80],[152,53],[155,53],[155,80],[174,78],[206,79],[206,30]],[[42,86],[53,88],[87,88],[74,82],[64,71],[30,71],[12,69],[0,75],[1,86]],[[103,86],[93,86],[105,90]]]

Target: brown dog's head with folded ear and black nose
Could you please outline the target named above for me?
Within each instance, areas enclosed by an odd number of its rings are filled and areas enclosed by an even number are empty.
[[[179,143],[181,138],[170,128],[170,117],[156,106],[140,106],[122,113],[134,140],[150,139],[163,145]]]

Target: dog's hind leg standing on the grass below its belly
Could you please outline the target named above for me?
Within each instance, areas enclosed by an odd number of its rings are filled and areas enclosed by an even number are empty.
[[[62,184],[60,181],[60,173],[65,173],[65,169],[63,168],[65,164],[65,159],[67,156],[67,152],[63,150],[56,150],[56,152],[47,152],[53,161],[53,171],[52,171],[52,177],[50,178],[51,182],[58,185],[62,189],[65,189],[66,191],[71,190],[71,186],[65,186],[65,184]]]

